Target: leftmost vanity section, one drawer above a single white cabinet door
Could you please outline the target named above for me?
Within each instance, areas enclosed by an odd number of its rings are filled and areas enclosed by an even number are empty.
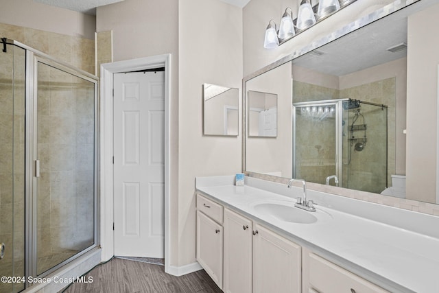
[[[221,205],[197,196],[196,258],[219,288],[223,272],[222,215]]]

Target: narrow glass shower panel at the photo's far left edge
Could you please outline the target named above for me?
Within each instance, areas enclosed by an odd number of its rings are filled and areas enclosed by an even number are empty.
[[[6,51],[0,51],[1,277],[25,276],[24,157],[25,50],[7,45]],[[24,289],[23,282],[11,279],[6,281],[0,283],[0,292],[19,292]]]

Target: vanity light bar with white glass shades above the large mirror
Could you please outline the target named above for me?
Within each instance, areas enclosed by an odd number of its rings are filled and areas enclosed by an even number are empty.
[[[265,29],[263,47],[276,48],[355,1],[357,0],[319,0],[318,4],[313,6],[311,0],[301,0],[297,19],[293,19],[291,8],[285,9],[278,32],[276,23],[270,20]]]

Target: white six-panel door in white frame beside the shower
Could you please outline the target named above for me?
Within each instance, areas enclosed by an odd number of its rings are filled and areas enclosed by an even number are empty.
[[[114,75],[115,255],[165,251],[165,74]]]

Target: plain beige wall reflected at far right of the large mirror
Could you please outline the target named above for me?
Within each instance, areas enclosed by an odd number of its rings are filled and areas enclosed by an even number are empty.
[[[408,19],[407,198],[427,202],[436,202],[439,38],[425,32],[438,27],[438,14],[435,5]]]

